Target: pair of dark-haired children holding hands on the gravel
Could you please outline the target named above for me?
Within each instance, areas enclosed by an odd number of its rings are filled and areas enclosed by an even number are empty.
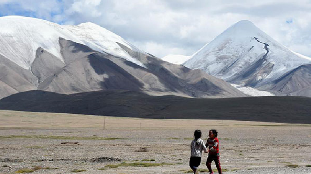
[[[217,138],[218,132],[215,129],[209,131],[209,138],[207,143],[204,144],[201,139],[202,132],[200,130],[194,131],[194,140],[191,142],[191,156],[189,160],[189,166],[193,170],[193,173],[198,174],[198,167],[201,163],[202,151],[209,153],[206,161],[206,166],[211,174],[213,174],[211,163],[215,162],[218,173],[221,174],[220,168],[220,156],[219,156],[219,141]],[[208,149],[207,149],[208,147]]]

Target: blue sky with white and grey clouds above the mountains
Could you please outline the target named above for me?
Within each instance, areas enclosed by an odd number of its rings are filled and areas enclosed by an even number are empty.
[[[155,56],[192,55],[239,20],[250,20],[311,57],[311,0],[0,0],[0,16],[58,24],[93,22]]]

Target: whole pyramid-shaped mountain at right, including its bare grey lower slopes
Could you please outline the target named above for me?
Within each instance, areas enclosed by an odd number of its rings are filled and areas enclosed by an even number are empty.
[[[274,95],[311,96],[311,58],[289,50],[248,20],[230,26],[179,64]]]

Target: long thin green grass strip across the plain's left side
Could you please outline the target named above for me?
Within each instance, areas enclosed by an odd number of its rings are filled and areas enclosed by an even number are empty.
[[[46,136],[46,135],[10,135],[0,136],[3,138],[35,138],[35,139],[57,139],[57,140],[126,140],[126,138],[103,138],[103,137],[78,137],[78,136]]]

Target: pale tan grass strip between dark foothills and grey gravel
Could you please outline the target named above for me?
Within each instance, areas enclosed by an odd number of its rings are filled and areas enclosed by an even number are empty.
[[[191,121],[191,124],[189,124]],[[285,123],[266,123],[234,120],[197,120],[197,119],[144,119],[105,117],[105,129],[180,129],[185,127],[210,127],[220,126],[310,126]],[[63,114],[63,113],[37,113],[0,110],[0,128],[78,128],[92,127],[103,128],[104,116]],[[171,139],[178,139],[172,137]]]

